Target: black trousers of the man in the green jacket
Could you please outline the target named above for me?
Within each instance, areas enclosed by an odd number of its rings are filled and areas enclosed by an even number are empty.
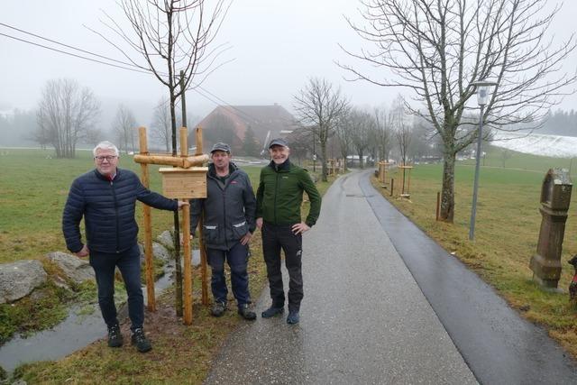
[[[302,235],[293,234],[292,225],[262,225],[262,252],[267,264],[270,298],[273,307],[284,307],[285,292],[280,272],[280,249],[285,253],[285,266],[289,270],[289,311],[298,311],[303,299],[301,272]]]

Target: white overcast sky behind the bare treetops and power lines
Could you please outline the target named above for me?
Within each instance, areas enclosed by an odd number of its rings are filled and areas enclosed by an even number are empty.
[[[227,104],[278,103],[290,111],[292,96],[307,78],[323,77],[342,87],[354,105],[389,104],[398,89],[347,82],[343,79],[346,73],[334,64],[334,60],[355,63],[339,48],[339,42],[352,50],[363,44],[343,19],[343,14],[355,17],[358,5],[355,0],[236,0],[219,32],[219,41],[231,47],[222,59],[233,61],[217,69],[203,87]],[[123,59],[83,27],[87,24],[105,31],[99,22],[101,10],[124,23],[124,15],[113,0],[3,0],[0,10],[0,23]],[[557,41],[575,32],[576,16],[577,2],[567,2],[554,23]],[[4,26],[0,26],[0,33],[30,39]],[[166,94],[158,80],[149,75],[71,58],[5,36],[0,36],[0,52],[0,110],[34,108],[41,87],[50,78],[75,78],[103,100],[141,108],[151,109]],[[577,68],[575,52],[565,67]],[[214,101],[194,92],[188,93],[187,104],[195,115],[206,115],[215,107]],[[567,97],[561,107],[577,109],[577,96]]]

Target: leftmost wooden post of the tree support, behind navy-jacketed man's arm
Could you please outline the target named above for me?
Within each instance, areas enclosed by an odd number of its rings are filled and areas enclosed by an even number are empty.
[[[140,143],[140,152],[142,155],[148,153],[148,141],[146,139],[146,128],[138,128],[138,137]],[[150,187],[150,177],[148,165],[141,163],[142,169],[142,186]],[[151,224],[151,207],[142,205],[142,217],[144,221],[144,256],[146,266],[146,302],[149,311],[156,311],[156,298],[154,296],[154,263],[152,261],[152,224]]]

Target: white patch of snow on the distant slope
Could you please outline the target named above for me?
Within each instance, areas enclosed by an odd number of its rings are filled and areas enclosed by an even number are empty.
[[[577,157],[577,137],[495,131],[493,146],[553,158]]]

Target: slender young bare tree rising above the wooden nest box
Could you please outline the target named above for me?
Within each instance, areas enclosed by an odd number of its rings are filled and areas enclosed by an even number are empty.
[[[106,25],[142,57],[136,60],[120,45],[111,42],[127,60],[150,70],[169,89],[172,153],[177,152],[177,119],[175,104],[184,88],[202,84],[215,69],[215,60],[223,46],[212,47],[215,36],[230,6],[228,0],[119,0],[132,32],[124,31],[110,16]],[[104,35],[101,34],[104,37]],[[198,79],[196,79],[198,78]],[[193,79],[196,79],[193,83]]]

